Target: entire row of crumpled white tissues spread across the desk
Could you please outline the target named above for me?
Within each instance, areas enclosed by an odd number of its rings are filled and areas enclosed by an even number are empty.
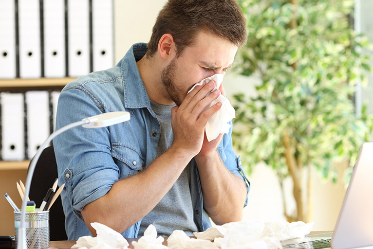
[[[97,236],[82,236],[72,248],[79,249],[128,249],[130,246],[123,236],[100,223],[91,223]],[[132,241],[134,249],[282,249],[280,240],[303,238],[312,230],[313,223],[302,221],[279,222],[232,222],[216,226],[203,232],[195,232],[190,238],[184,231],[175,230],[167,239],[157,238],[153,225],[144,236]]]

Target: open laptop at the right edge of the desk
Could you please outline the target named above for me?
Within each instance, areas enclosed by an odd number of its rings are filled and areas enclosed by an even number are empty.
[[[284,249],[373,249],[373,142],[361,145],[334,232],[281,241]]]

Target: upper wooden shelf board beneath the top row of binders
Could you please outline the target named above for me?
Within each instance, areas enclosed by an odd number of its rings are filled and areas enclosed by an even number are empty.
[[[76,78],[0,79],[0,88],[64,87]]]

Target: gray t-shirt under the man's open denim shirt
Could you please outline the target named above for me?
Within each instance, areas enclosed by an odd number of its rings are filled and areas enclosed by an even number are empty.
[[[165,153],[173,143],[171,127],[171,108],[150,101],[150,106],[161,125],[157,156]],[[174,230],[183,230],[187,235],[198,231],[193,220],[193,206],[189,189],[189,164],[161,201],[141,221],[138,236],[143,236],[150,224],[157,229],[158,235],[169,236]]]

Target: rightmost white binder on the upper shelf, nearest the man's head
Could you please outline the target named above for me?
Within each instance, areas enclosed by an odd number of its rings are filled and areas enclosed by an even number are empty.
[[[92,1],[93,71],[114,66],[112,0]]]

